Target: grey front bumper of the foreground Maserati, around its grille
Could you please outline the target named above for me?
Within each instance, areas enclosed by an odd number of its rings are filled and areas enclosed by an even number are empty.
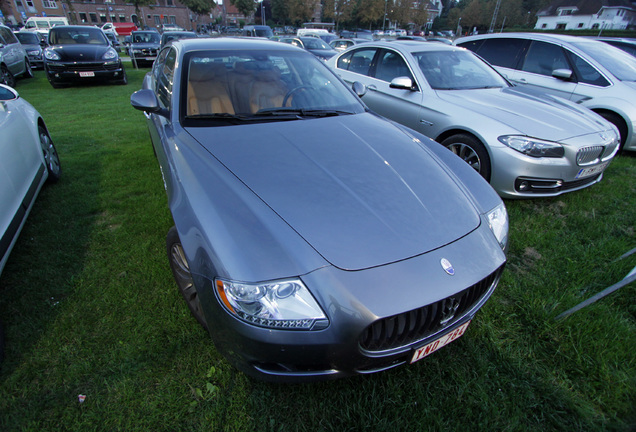
[[[471,320],[493,293],[505,255],[485,225],[440,250],[402,262],[355,272],[325,267],[301,276],[329,318],[322,330],[248,324],[221,305],[213,280],[195,275],[195,285],[216,347],[250,376],[304,382],[384,371],[409,363],[417,348]],[[453,276],[444,272],[442,258],[455,266]],[[467,297],[460,294],[467,290]],[[446,321],[445,302],[460,297],[465,300],[457,301],[464,303]],[[424,327],[425,320],[410,318],[424,309],[430,312],[428,328],[396,330],[393,324],[405,320]]]

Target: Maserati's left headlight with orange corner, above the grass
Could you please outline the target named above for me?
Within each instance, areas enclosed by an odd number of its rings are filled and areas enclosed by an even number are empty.
[[[262,284],[216,280],[223,305],[238,318],[262,327],[317,330],[327,317],[298,279]]]

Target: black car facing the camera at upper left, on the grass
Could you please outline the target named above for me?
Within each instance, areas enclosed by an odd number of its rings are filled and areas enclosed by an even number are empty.
[[[44,50],[44,71],[53,88],[72,83],[128,83],[119,54],[99,27],[56,26]]]

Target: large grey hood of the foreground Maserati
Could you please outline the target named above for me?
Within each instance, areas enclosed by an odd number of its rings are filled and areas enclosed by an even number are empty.
[[[480,224],[448,168],[372,114],[187,131],[342,269],[423,254]]]

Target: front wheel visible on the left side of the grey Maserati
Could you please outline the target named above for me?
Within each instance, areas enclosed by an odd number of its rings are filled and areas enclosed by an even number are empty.
[[[174,226],[170,228],[170,231],[168,231],[168,235],[166,237],[166,250],[168,252],[170,269],[172,269],[172,275],[174,276],[175,282],[177,282],[179,292],[188,304],[192,315],[196,318],[199,324],[207,330],[208,323],[205,320],[205,315],[203,314],[199,294],[194,286],[194,280],[190,273],[190,265],[188,264],[183,247],[181,246],[181,239],[179,239],[177,228]]]

